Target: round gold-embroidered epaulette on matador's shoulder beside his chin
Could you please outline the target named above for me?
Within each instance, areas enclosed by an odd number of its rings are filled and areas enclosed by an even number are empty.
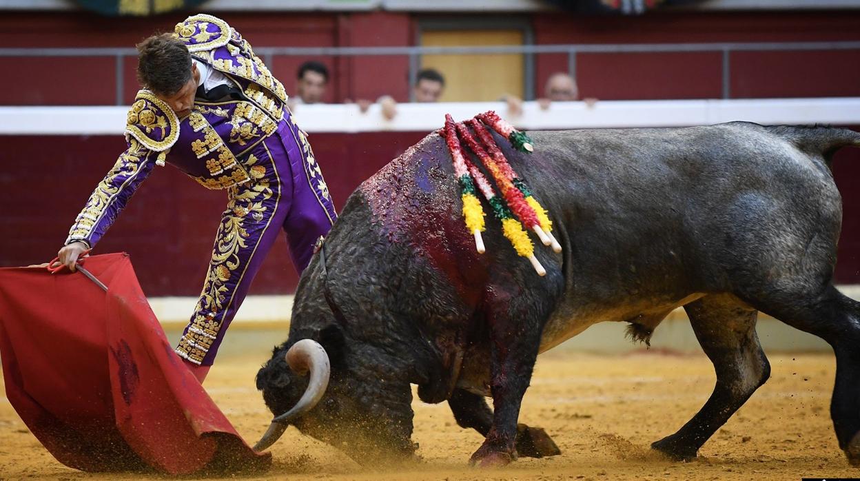
[[[138,90],[126,117],[126,135],[131,135],[151,151],[169,150],[179,139],[179,119],[170,106],[151,91]],[[164,155],[158,156],[163,165]]]

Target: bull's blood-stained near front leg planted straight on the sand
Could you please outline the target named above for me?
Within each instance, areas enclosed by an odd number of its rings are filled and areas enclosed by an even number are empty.
[[[537,359],[540,319],[545,318],[543,304],[533,305],[528,301],[528,296],[519,295],[498,296],[488,302],[493,423],[487,439],[472,454],[470,464],[504,466],[516,459],[519,406]]]

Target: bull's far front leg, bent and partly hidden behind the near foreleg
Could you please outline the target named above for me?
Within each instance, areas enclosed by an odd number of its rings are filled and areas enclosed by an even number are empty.
[[[486,437],[493,425],[493,411],[489,409],[483,396],[478,396],[464,389],[456,389],[448,399],[454,419],[462,428],[475,429]],[[555,456],[562,452],[542,428],[531,428],[525,424],[517,425],[517,454],[526,458],[543,458]]]

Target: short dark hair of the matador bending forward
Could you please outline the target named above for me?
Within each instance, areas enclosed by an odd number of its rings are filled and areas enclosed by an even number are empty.
[[[172,96],[191,78],[191,53],[174,34],[155,34],[138,43],[138,82]]]

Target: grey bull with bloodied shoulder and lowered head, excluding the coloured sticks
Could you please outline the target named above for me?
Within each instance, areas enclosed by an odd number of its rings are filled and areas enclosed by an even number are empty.
[[[472,462],[558,453],[543,429],[517,423],[538,353],[603,321],[648,340],[684,306],[716,387],[654,449],[695,457],[765,382],[762,311],[832,345],[833,424],[860,463],[860,304],[832,286],[842,207],[830,170],[832,153],[860,134],[736,122],[531,136],[531,155],[496,140],[563,246],[537,245],[546,276],[490,216],[487,252],[476,252],[451,156],[428,135],[350,196],[304,271],[290,336],[257,374],[268,408],[292,410],[258,447],[292,423],[360,462],[408,456],[415,384],[486,437]],[[291,370],[285,355],[304,339],[316,357],[297,345]]]

